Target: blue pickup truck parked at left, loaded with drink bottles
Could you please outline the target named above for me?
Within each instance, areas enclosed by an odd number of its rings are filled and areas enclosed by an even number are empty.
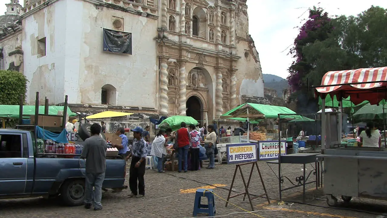
[[[34,138],[30,131],[0,129],[0,199],[58,196],[68,206],[82,205],[85,161],[37,157]],[[127,188],[125,175],[125,160],[107,159],[103,189]]]

